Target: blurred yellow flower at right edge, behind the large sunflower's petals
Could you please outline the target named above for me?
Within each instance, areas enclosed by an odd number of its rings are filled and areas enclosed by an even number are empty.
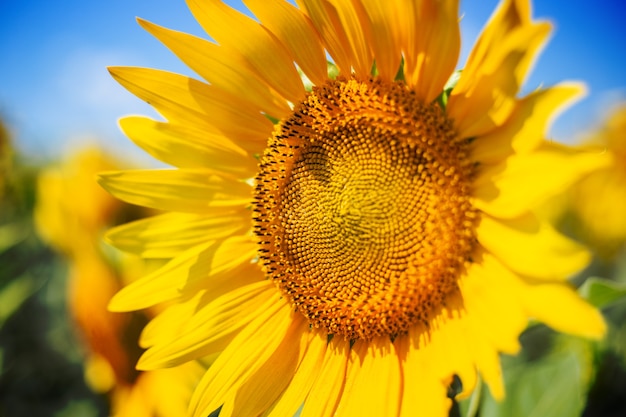
[[[598,168],[572,190],[572,209],[582,222],[584,237],[600,255],[611,257],[626,242],[626,104],[616,108],[582,146],[612,157],[610,165]]]

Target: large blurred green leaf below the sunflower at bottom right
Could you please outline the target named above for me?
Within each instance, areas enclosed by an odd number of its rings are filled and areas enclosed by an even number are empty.
[[[581,358],[562,352],[533,362],[514,361],[505,369],[506,398],[497,402],[484,390],[481,417],[571,417],[585,405],[586,377]]]

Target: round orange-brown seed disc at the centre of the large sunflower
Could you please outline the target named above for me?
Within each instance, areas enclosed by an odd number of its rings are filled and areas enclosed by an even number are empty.
[[[457,288],[474,242],[467,145],[402,83],[329,81],[263,156],[266,274],[315,327],[395,336]]]

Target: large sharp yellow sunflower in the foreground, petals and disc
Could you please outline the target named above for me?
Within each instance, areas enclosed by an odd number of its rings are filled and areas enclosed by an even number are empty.
[[[454,379],[502,398],[529,318],[604,334],[566,281],[588,252],[533,212],[607,161],[544,140],[583,87],[517,97],[550,32],[528,1],[462,72],[457,1],[187,3],[216,43],[139,23],[206,82],[110,69],[166,119],[122,130],[176,169],[100,181],[166,211],[108,234],[169,259],[110,308],[169,305],[138,367],[204,363],[192,415],[445,416]]]

